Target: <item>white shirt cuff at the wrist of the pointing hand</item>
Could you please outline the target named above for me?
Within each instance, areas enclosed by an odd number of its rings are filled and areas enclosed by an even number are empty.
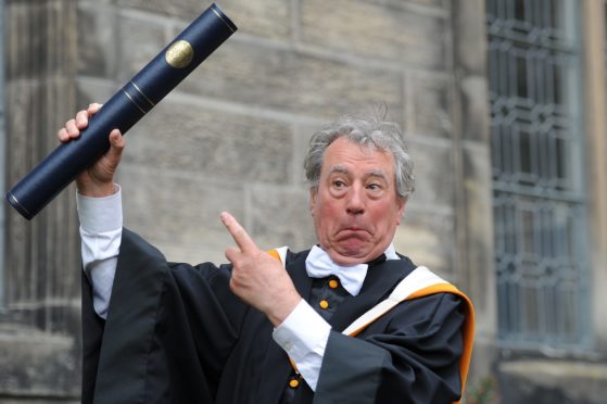
[[[312,391],[316,391],[330,332],[331,326],[302,299],[273,333]]]

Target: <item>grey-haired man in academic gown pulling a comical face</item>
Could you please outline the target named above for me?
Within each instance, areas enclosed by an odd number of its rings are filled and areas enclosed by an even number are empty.
[[[60,140],[77,138],[99,108],[68,121]],[[432,289],[374,316],[356,338],[341,333],[416,269],[392,244],[413,192],[395,125],[343,117],[311,140],[304,165],[318,245],[268,254],[222,213],[237,248],[226,250],[231,265],[218,267],[167,263],[123,229],[118,130],[110,143],[77,178],[87,275],[83,401],[459,400],[472,313],[458,292]]]

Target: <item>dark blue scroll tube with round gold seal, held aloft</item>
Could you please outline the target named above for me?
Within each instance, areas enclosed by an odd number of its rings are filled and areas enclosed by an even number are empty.
[[[60,144],[22,178],[7,200],[31,219],[76,176],[110,148],[109,135],[126,134],[170,90],[237,30],[212,4],[89,119],[79,138]]]

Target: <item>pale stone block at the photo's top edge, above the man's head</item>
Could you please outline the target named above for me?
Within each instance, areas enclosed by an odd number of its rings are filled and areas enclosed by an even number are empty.
[[[333,52],[382,59],[406,65],[443,68],[447,65],[446,22],[363,0],[324,0],[301,4],[301,40]]]

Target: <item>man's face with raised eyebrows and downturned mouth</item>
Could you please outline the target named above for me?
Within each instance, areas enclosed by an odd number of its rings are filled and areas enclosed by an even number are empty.
[[[327,148],[311,207],[318,242],[333,262],[359,264],[385,251],[405,209],[394,178],[389,152],[345,138]]]

